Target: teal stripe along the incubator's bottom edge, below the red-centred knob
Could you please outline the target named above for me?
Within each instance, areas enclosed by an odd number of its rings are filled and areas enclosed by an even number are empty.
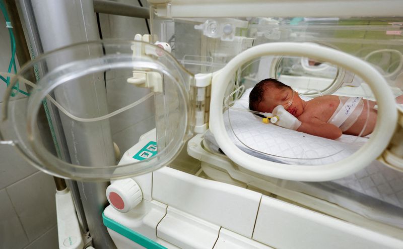
[[[136,242],[148,249],[168,249],[167,247],[160,245],[159,243],[151,240],[143,234],[135,232],[130,228],[125,227],[122,224],[119,224],[116,221],[106,217],[104,213],[102,213],[102,220],[107,228],[112,229],[113,231],[130,239],[131,241]]]

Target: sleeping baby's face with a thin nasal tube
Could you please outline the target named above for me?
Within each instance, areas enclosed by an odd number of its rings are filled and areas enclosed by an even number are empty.
[[[303,112],[302,99],[290,88],[268,87],[264,90],[264,98],[258,104],[258,111],[273,112],[273,109],[282,105],[284,108],[298,117]]]

